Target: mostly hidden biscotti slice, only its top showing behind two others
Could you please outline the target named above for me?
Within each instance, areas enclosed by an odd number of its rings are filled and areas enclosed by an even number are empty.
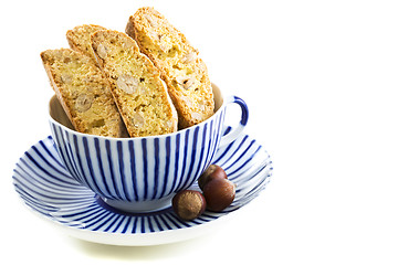
[[[78,51],[95,61],[96,59],[91,45],[91,35],[98,30],[106,30],[106,28],[96,24],[77,25],[66,32],[67,43],[71,49]]]

